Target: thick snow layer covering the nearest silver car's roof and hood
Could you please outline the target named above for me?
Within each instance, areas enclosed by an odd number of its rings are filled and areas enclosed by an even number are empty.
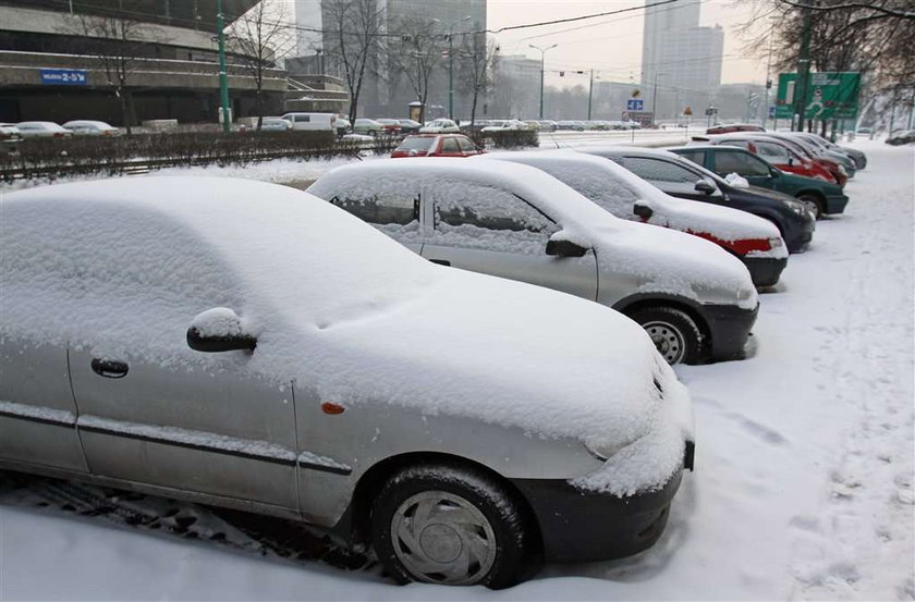
[[[11,193],[0,210],[0,336],[293,381],[303,400],[634,445],[582,483],[619,494],[663,484],[682,460],[691,426],[670,402],[687,393],[635,322],[431,265],[307,193],[141,177]],[[183,344],[215,307],[240,315],[253,354],[205,359]]]

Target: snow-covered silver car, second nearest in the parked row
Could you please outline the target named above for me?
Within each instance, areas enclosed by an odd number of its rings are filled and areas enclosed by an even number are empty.
[[[645,327],[671,364],[741,356],[756,320],[756,287],[736,257],[683,232],[615,218],[528,165],[371,161],[337,168],[308,192],[429,261],[618,309]]]

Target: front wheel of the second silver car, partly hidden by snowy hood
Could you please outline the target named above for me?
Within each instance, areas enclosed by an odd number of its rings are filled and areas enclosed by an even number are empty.
[[[675,307],[647,307],[630,315],[651,337],[658,353],[670,364],[697,364],[703,333],[696,321]]]

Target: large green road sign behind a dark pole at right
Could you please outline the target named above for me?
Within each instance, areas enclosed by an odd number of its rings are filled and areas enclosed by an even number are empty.
[[[861,73],[810,73],[804,119],[856,119],[861,90]],[[779,74],[776,118],[794,116],[796,73]]]

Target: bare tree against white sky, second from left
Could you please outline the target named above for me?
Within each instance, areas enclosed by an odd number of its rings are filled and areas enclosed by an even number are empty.
[[[229,48],[254,79],[254,112],[257,130],[264,122],[264,75],[276,66],[276,60],[288,53],[295,44],[289,25],[286,4],[261,0],[239,17],[229,32]]]

